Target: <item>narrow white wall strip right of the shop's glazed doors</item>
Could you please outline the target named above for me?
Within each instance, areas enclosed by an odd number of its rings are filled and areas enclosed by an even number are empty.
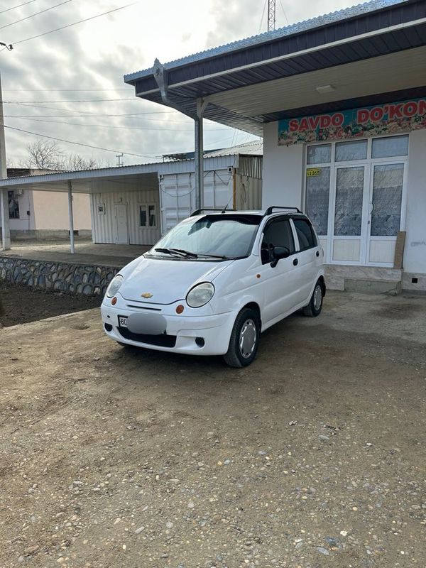
[[[426,129],[410,133],[404,271],[426,273]]]

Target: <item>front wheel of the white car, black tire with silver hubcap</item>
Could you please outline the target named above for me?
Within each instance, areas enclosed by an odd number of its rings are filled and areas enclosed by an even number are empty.
[[[256,310],[244,307],[236,316],[228,351],[224,361],[230,367],[246,367],[256,357],[259,337],[261,334],[261,321]]]

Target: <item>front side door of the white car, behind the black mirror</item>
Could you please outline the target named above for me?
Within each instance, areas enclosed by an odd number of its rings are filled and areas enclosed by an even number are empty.
[[[274,246],[285,246],[290,251],[288,258],[281,258],[276,266],[273,261]],[[297,263],[295,263],[295,240],[288,217],[274,217],[263,229],[261,239],[261,286],[263,288],[262,323],[278,321],[296,305]]]

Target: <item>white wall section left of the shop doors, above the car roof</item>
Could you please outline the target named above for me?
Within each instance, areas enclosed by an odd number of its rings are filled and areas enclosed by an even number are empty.
[[[303,144],[278,146],[278,122],[263,128],[262,207],[302,207]]]

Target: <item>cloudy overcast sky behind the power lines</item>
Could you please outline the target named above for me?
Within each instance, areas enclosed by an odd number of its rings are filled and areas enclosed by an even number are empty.
[[[152,67],[155,58],[165,63],[266,31],[265,1],[141,0],[26,40],[129,1],[0,1],[0,41],[14,44],[11,52],[0,52],[7,126],[107,148],[111,152],[61,143],[67,153],[96,158],[104,165],[116,165],[117,151],[124,153],[126,165],[156,161],[165,153],[193,151],[193,122],[167,107],[136,99],[123,75]],[[24,2],[28,3],[10,9]],[[57,4],[62,5],[32,16]],[[276,27],[351,4],[348,0],[278,0]],[[18,21],[22,18],[28,19]],[[86,102],[94,99],[123,100]],[[111,116],[123,114],[136,116]],[[224,148],[253,139],[204,121],[204,148]],[[32,134],[6,129],[8,163],[18,165],[25,160],[26,145],[35,140]]]

